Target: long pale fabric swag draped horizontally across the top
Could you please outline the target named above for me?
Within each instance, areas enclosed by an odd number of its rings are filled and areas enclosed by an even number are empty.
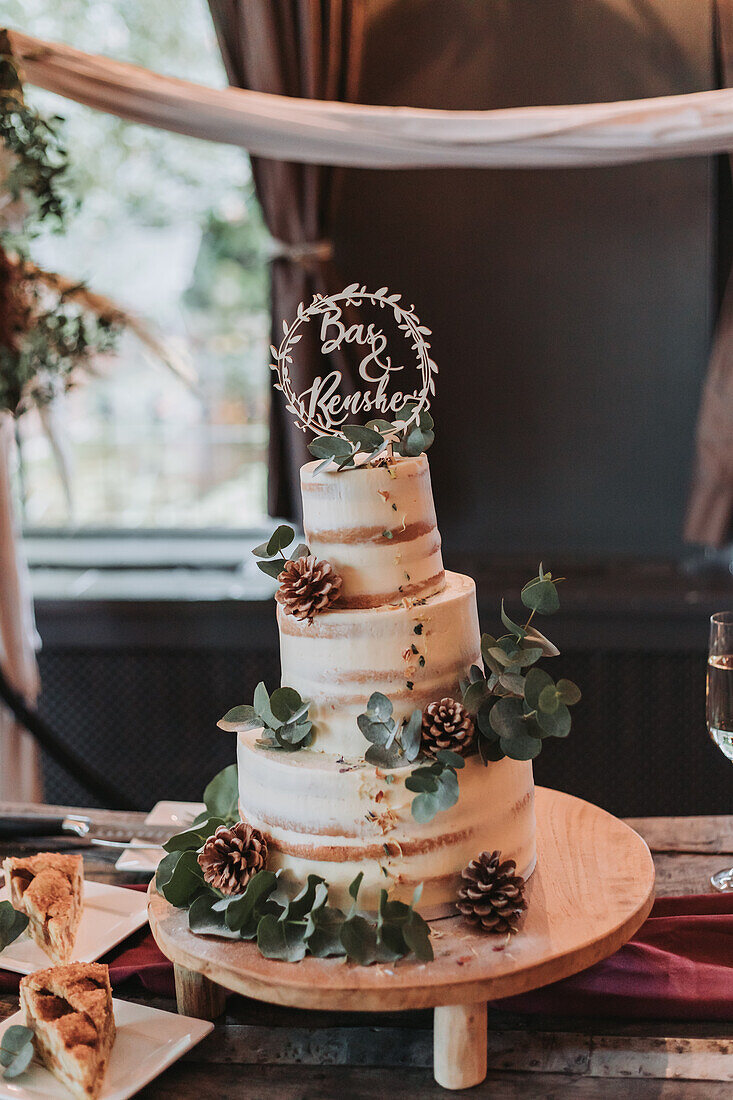
[[[371,168],[570,167],[733,148],[733,89],[686,96],[433,111],[207,88],[18,31],[31,84],[133,122],[241,145],[258,156]]]

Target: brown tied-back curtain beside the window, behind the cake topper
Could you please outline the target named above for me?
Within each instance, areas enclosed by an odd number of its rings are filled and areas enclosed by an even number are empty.
[[[352,101],[362,48],[362,0],[209,0],[229,82],[253,91],[308,99]],[[339,169],[252,158],[264,219],[275,239],[272,262],[272,343],[282,339],[283,319],[314,293],[346,285],[335,267],[329,241]],[[348,282],[348,280],[346,280]],[[348,352],[347,352],[348,354]],[[318,332],[304,330],[292,366],[298,392],[318,374],[338,369],[342,392],[354,388],[354,363],[340,354],[326,362]],[[274,381],[274,376],[273,376]],[[270,414],[271,515],[299,518],[298,471],[310,455],[308,437],[272,393]]]

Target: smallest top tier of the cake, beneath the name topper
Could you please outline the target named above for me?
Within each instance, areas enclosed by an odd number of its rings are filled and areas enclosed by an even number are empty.
[[[310,552],[343,584],[341,607],[380,607],[422,598],[446,583],[425,454],[389,466],[342,472],[300,470],[303,527]]]

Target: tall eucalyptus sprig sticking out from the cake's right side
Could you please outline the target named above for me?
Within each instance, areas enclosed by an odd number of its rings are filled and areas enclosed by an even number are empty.
[[[540,562],[537,576],[522,588],[522,603],[530,610],[524,625],[508,617],[502,601],[501,618],[507,632],[499,638],[483,635],[481,656],[485,668],[474,664],[461,683],[463,705],[475,718],[484,765],[505,756],[533,760],[546,737],[567,737],[570,733],[569,707],[580,702],[580,689],[571,680],[555,683],[547,672],[534,667],[541,657],[559,654],[532,620],[535,614],[553,615],[558,610],[556,585],[561,580],[545,572]]]

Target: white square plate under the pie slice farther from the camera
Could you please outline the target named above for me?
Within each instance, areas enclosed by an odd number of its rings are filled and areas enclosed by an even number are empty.
[[[7,901],[8,888],[0,889],[0,901]],[[75,963],[94,963],[147,920],[147,895],[136,890],[123,890],[105,882],[84,882],[84,912],[74,945]],[[45,952],[23,933],[4,952],[0,952],[0,970],[33,974],[53,966]]]

